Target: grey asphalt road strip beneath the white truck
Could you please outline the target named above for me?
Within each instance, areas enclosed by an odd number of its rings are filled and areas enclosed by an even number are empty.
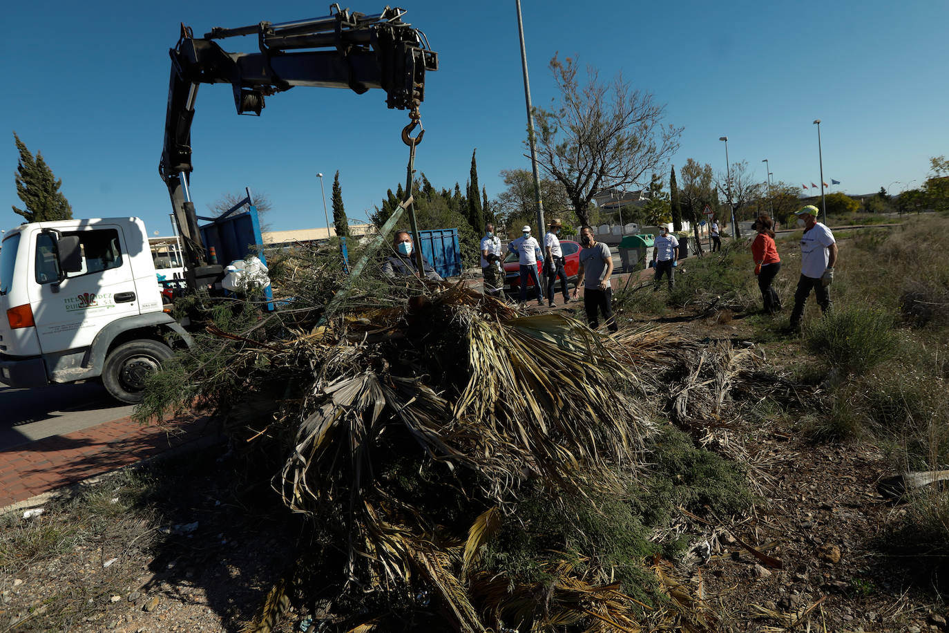
[[[38,389],[0,385],[0,450],[124,418],[133,408],[112,400],[99,382]]]

